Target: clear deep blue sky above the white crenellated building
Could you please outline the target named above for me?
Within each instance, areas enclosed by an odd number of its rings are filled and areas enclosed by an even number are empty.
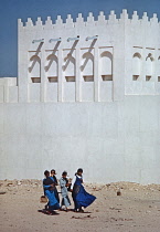
[[[157,13],[160,20],[160,0],[0,0],[0,77],[18,76],[19,18],[26,22],[28,18],[36,21],[41,17],[45,21],[51,17],[54,21],[58,14],[65,20],[70,13],[75,20],[78,13],[86,19],[93,12],[97,19],[99,11],[108,17],[115,10],[119,17],[122,9],[129,17],[137,10],[140,17],[142,12],[148,12],[149,18]]]

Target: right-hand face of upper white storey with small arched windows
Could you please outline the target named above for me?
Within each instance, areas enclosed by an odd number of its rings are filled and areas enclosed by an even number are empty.
[[[160,55],[160,23],[158,18],[149,19],[145,12],[139,19],[134,12],[131,20],[125,25],[125,94],[126,95],[159,95],[159,55]],[[135,54],[139,54],[139,64],[134,68]],[[139,67],[138,67],[139,66]],[[137,81],[132,75],[139,75]],[[147,81],[147,76],[150,80]]]

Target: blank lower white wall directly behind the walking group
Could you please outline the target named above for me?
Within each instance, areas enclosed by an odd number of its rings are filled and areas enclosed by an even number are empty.
[[[0,179],[73,176],[160,183],[160,97],[114,103],[0,104]]]

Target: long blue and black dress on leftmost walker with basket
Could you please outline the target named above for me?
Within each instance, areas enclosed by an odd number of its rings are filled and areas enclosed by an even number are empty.
[[[49,199],[47,205],[50,211],[60,209],[60,204],[54,194],[54,188],[50,186],[52,183],[53,181],[51,180],[50,177],[43,180],[44,194]]]

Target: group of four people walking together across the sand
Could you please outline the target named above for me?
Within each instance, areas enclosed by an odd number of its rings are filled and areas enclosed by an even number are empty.
[[[60,204],[58,192],[56,189],[58,183],[55,175],[56,172],[54,169],[51,170],[51,173],[47,170],[44,171],[45,179],[43,180],[43,189],[44,196],[49,199],[49,202],[45,205],[45,210],[49,214],[55,213],[54,210],[63,210],[63,207],[65,207],[64,210],[67,212],[68,207],[71,205],[68,191],[72,192],[75,212],[84,212],[82,208],[86,208],[95,201],[96,197],[86,192],[83,187],[83,169],[79,168],[71,183],[67,179],[67,172],[63,171],[60,179],[62,194],[62,202]]]

